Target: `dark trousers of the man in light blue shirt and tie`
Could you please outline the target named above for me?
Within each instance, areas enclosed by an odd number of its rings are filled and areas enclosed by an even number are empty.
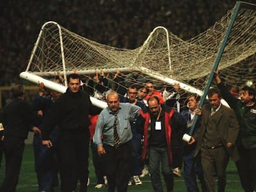
[[[129,141],[114,148],[103,144],[106,154],[102,156],[106,166],[106,176],[108,178],[108,192],[126,192],[129,182],[130,157],[132,153],[132,143]]]

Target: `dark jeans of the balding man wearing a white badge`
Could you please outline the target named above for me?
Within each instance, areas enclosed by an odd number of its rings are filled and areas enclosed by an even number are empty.
[[[155,192],[163,192],[160,177],[160,164],[166,189],[168,192],[173,191],[173,166],[169,164],[168,149],[148,147],[148,170],[150,172],[151,183]]]

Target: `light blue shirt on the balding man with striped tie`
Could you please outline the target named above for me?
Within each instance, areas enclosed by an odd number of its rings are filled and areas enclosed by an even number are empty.
[[[139,115],[139,109],[139,106],[130,103],[120,103],[117,114],[117,133],[121,144],[132,140],[132,130],[129,120]],[[103,141],[101,140],[102,135],[104,138]],[[103,143],[114,146],[114,115],[109,107],[103,109],[98,117],[93,143],[97,144],[97,146],[102,146]]]

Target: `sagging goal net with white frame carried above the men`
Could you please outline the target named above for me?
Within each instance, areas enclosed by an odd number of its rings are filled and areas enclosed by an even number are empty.
[[[188,92],[202,95],[205,90],[234,10],[229,10],[207,31],[187,41],[164,27],[156,27],[136,49],[107,46],[77,35],[56,22],[46,22],[41,27],[27,69],[20,77],[34,83],[46,80],[46,86],[63,92],[62,86],[49,81],[62,77],[65,86],[67,75],[76,72],[90,88],[92,96],[93,90],[97,90],[95,81],[99,81],[103,73],[108,85],[103,82],[101,85],[120,94],[125,94],[132,84],[143,87],[148,80],[160,91],[179,83],[183,90],[180,97],[186,101]],[[255,53],[255,5],[245,4],[237,12],[218,64],[221,77],[234,91],[246,83],[255,83]]]

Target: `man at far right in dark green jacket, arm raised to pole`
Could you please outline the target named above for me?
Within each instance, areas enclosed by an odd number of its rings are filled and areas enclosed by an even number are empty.
[[[237,99],[231,94],[218,75],[215,73],[216,83],[228,102],[234,109],[239,122],[239,136],[237,138],[237,148],[240,154],[236,167],[241,180],[242,188],[245,192],[256,190],[256,102],[255,90],[249,86],[241,89],[240,97]]]

